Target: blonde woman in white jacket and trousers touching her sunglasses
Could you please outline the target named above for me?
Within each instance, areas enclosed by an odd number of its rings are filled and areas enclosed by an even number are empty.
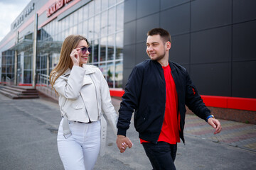
[[[65,169],[90,170],[104,154],[107,122],[117,134],[117,113],[107,81],[95,66],[87,65],[91,49],[86,38],[65,38],[60,60],[50,73],[50,84],[59,95],[62,120],[58,152]]]

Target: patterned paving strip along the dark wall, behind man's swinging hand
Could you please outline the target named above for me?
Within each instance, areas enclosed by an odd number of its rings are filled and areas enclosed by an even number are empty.
[[[120,102],[120,99],[113,101],[115,108],[120,106]],[[213,128],[196,115],[186,114],[185,121],[185,135],[201,137],[203,140],[220,142],[256,152],[256,125],[220,120],[222,131],[213,135]]]

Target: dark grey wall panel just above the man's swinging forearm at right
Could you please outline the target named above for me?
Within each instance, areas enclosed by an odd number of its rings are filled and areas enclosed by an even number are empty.
[[[199,94],[231,96],[231,63],[191,65],[191,79]]]

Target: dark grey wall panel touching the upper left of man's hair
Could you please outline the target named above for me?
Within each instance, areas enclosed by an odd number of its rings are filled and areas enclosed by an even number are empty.
[[[159,13],[137,20],[137,42],[143,42],[146,40],[146,33],[153,29],[159,28]]]

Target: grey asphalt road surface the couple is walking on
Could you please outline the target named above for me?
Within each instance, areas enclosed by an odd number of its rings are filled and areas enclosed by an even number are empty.
[[[119,101],[116,98],[112,101],[118,109]],[[63,169],[56,142],[59,122],[58,104],[47,98],[11,100],[0,94],[0,169]],[[115,145],[115,135],[108,127],[106,154],[98,157],[95,170],[151,169],[133,123],[127,136],[134,147],[121,154]],[[235,170],[256,167],[256,153],[250,150],[188,134],[185,139],[186,145],[178,144],[177,169]]]

